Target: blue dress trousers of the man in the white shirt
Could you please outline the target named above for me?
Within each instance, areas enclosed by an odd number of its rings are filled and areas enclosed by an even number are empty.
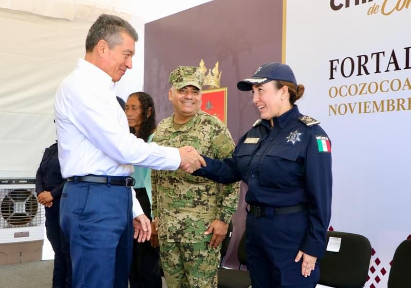
[[[127,288],[133,250],[130,188],[69,181],[60,225],[70,243],[73,288]]]

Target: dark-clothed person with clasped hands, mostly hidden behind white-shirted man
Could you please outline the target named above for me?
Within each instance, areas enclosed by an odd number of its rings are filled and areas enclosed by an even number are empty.
[[[35,176],[38,200],[45,206],[46,234],[54,251],[53,288],[71,288],[69,244],[60,229],[60,198],[64,183],[57,141],[46,148]]]

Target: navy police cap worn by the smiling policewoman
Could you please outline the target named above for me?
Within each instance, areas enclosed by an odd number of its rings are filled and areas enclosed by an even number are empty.
[[[297,85],[297,80],[295,80],[294,73],[290,66],[271,62],[258,67],[251,78],[239,81],[237,83],[237,88],[241,91],[250,91],[253,90],[253,84],[264,84],[272,80],[288,81]]]

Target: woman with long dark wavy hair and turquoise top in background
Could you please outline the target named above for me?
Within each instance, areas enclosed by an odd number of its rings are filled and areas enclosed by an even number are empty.
[[[130,133],[146,142],[151,142],[156,129],[156,111],[152,97],[144,92],[130,94],[125,105]],[[134,190],[144,214],[151,217],[151,170],[134,167]],[[152,231],[152,235],[156,233]],[[154,237],[152,237],[153,239]],[[161,288],[161,271],[158,265],[159,250],[152,247],[150,241],[133,243],[133,260],[130,269],[130,288]]]

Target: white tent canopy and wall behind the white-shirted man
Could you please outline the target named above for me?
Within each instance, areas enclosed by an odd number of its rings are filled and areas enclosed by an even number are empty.
[[[56,138],[55,90],[84,57],[87,31],[101,13],[127,19],[139,34],[133,69],[117,85],[125,98],[143,90],[144,24],[204,2],[0,0],[0,178],[35,176]]]

